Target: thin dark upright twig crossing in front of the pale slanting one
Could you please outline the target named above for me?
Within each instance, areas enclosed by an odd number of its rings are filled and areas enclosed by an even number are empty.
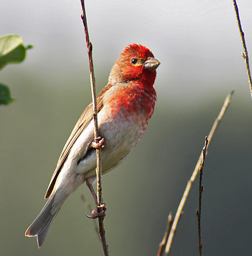
[[[202,163],[199,168],[200,171],[200,179],[199,179],[199,210],[196,210],[196,215],[198,218],[198,236],[199,236],[199,255],[202,256],[202,241],[201,241],[201,199],[202,199],[202,193],[204,190],[204,186],[202,185],[202,178],[203,178],[203,167],[204,167],[204,161],[207,153],[207,145],[208,145],[208,139],[205,138],[205,147],[202,150]]]

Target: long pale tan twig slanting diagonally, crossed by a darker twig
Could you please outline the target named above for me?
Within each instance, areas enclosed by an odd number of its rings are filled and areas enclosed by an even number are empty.
[[[226,111],[226,109],[227,109],[227,107],[228,107],[228,104],[229,104],[229,102],[230,102],[230,99],[231,99],[232,94],[233,94],[233,91],[227,96],[227,98],[226,98],[226,100],[225,100],[225,102],[224,102],[224,104],[223,104],[223,106],[222,106],[222,109],[221,109],[221,111],[220,111],[220,113],[219,113],[217,119],[216,119],[215,122],[214,122],[214,125],[213,125],[213,127],[212,127],[212,129],[211,129],[211,131],[210,131],[210,133],[209,133],[209,135],[208,135],[208,143],[210,143],[211,140],[212,140],[212,137],[213,137],[213,135],[214,135],[214,132],[215,132],[215,130],[216,130],[216,128],[217,128],[217,126],[218,126],[218,124],[219,124],[221,118],[223,117],[223,115],[224,115],[224,113],[225,113],[225,111]],[[199,172],[199,168],[200,168],[200,165],[201,165],[201,163],[202,163],[202,159],[203,159],[203,154],[201,153],[201,156],[200,156],[200,158],[199,158],[199,160],[198,160],[198,163],[197,163],[197,165],[196,165],[196,167],[195,167],[195,169],[194,169],[193,175],[192,175],[190,181],[188,181],[188,183],[187,183],[187,186],[186,186],[186,188],[185,188],[184,194],[183,194],[182,199],[181,199],[181,201],[180,201],[180,203],[179,203],[179,206],[178,206],[178,208],[177,208],[177,212],[176,212],[176,215],[175,215],[175,218],[174,218],[172,227],[171,227],[171,231],[170,231],[170,234],[169,234],[169,237],[168,237],[168,241],[167,241],[167,244],[166,244],[166,248],[165,248],[165,253],[166,253],[166,255],[168,255],[168,253],[169,253],[169,251],[170,251],[172,239],[173,239],[173,236],[174,236],[176,227],[177,227],[177,223],[178,223],[179,217],[180,217],[180,215],[181,215],[181,211],[182,211],[182,209],[183,209],[183,206],[184,206],[184,203],[185,203],[186,198],[187,198],[187,196],[188,196],[188,193],[190,192],[190,189],[191,189],[191,187],[192,187],[192,184],[193,184],[193,182],[195,181],[195,178],[196,178],[196,176],[197,176],[197,174],[198,174],[198,172]]]

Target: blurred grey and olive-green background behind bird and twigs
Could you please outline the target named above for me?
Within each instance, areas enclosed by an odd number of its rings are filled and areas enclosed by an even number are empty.
[[[238,0],[252,59],[252,1]],[[86,1],[97,91],[123,47],[147,46],[161,61],[147,131],[123,164],[103,176],[111,256],[156,255],[221,106],[235,90],[205,161],[204,255],[251,254],[252,102],[232,1]],[[34,49],[0,81],[13,104],[0,108],[0,254],[103,255],[82,193],[65,203],[43,246],[24,236],[76,121],[91,101],[79,1],[1,1],[0,34]],[[197,255],[198,179],[170,255]]]

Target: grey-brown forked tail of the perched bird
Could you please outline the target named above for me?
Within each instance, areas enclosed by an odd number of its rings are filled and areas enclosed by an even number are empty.
[[[60,207],[56,211],[52,211],[52,204],[55,194],[53,194],[46,202],[40,214],[31,224],[31,226],[26,230],[26,236],[37,236],[38,247],[41,247],[45,240],[45,236],[56,217]],[[65,201],[65,200],[64,200]],[[62,205],[62,204],[61,204]]]

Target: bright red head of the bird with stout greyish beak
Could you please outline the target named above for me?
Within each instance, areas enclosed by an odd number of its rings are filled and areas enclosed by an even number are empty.
[[[113,83],[138,80],[153,86],[159,64],[160,61],[145,46],[129,45],[120,53],[111,70],[109,81]]]

